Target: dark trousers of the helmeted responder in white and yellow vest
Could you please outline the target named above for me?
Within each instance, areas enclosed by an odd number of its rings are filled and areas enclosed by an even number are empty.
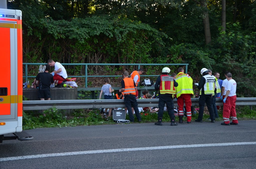
[[[212,107],[212,94],[202,94],[202,95],[200,95],[198,103],[199,103],[199,114],[198,114],[197,119],[198,120],[203,119],[204,108],[205,108],[205,103],[206,103],[211,120],[215,120],[215,114],[214,114],[214,110],[213,110],[213,107]]]

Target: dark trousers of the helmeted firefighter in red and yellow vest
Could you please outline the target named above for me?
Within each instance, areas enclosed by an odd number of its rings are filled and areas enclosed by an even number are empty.
[[[159,111],[158,111],[158,117],[163,117],[163,113],[164,113],[164,106],[166,104],[167,107],[167,112],[170,116],[170,118],[175,118],[174,116],[174,104],[173,104],[173,97],[170,95],[160,95],[159,96],[159,102],[158,102],[158,107],[159,107]]]

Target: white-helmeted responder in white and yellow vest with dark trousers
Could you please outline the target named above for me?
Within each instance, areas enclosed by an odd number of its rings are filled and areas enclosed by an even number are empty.
[[[206,68],[202,68],[200,73],[203,77],[201,77],[199,83],[195,83],[197,88],[200,89],[200,97],[199,97],[199,114],[195,122],[202,122],[205,103],[207,105],[211,123],[215,123],[215,114],[212,107],[212,95],[214,95],[214,90],[216,87],[216,80],[213,76],[208,74],[209,70]]]

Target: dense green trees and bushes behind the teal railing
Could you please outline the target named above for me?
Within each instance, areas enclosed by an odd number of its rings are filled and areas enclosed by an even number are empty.
[[[226,31],[221,28],[221,1],[198,2],[9,0],[8,8],[23,11],[23,62],[188,63],[195,81],[202,67],[220,72],[221,79],[229,70],[238,96],[255,97],[256,1],[226,0]],[[211,32],[207,45],[206,13]],[[161,69],[144,68],[147,74]],[[84,71],[82,66],[68,67],[70,75]]]

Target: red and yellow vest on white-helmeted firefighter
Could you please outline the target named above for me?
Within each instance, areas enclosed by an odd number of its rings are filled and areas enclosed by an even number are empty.
[[[161,94],[175,94],[174,79],[169,75],[161,75],[161,82],[159,85]]]

